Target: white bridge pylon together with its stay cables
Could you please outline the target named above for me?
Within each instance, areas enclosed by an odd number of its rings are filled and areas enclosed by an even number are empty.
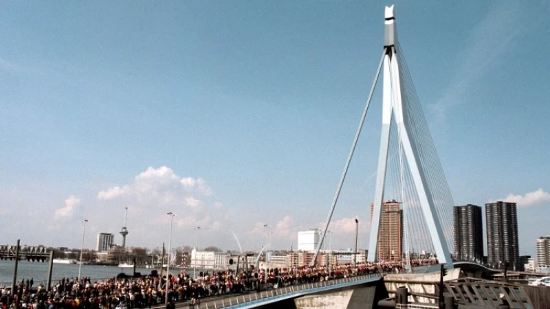
[[[389,8],[386,7],[385,12],[384,52],[382,54],[382,59],[380,59],[380,64],[378,65],[377,73],[369,93],[369,98],[367,99],[358,130],[355,133],[355,139],[353,140],[349,156],[344,165],[344,172],[342,172],[340,183],[338,183],[332,207],[325,221],[325,227],[322,229],[321,239],[311,264],[316,263],[318,253],[325,240],[336,203],[338,202],[338,197],[342,190],[342,185],[346,179],[349,164],[353,158],[355,147],[358,144],[366,113],[369,110],[369,105],[373,97],[373,92],[383,67],[382,134],[380,138],[373,218],[371,218],[371,235],[367,260],[369,262],[375,262],[377,257],[377,241],[380,229],[382,203],[384,201],[386,172],[388,169],[388,150],[390,149],[391,132],[395,134],[397,131],[397,138],[399,139],[399,160],[401,161],[401,198],[406,199],[405,190],[409,192],[408,189],[404,189],[403,173],[404,167],[408,167],[408,177],[406,177],[408,183],[410,183],[408,187],[410,187],[410,190],[414,190],[417,198],[417,201],[412,203],[412,206],[416,208],[413,207],[411,214],[417,214],[417,216],[422,217],[416,219],[418,221],[417,223],[421,220],[423,221],[422,225],[425,225],[422,229],[426,230],[427,228],[426,233],[429,233],[429,238],[439,263],[447,264],[448,268],[452,268],[452,260],[449,252],[450,248],[448,247],[448,242],[452,242],[452,230],[450,230],[450,228],[452,228],[452,220],[450,219],[450,213],[448,213],[448,211],[452,209],[451,207],[454,205],[454,202],[452,201],[447,181],[441,169],[441,163],[439,163],[439,157],[437,156],[437,151],[431,139],[426,119],[421,112],[421,107],[414,86],[412,85],[406,62],[402,57],[401,48],[397,42],[394,7],[392,5]],[[393,126],[395,126],[395,128],[392,130]],[[404,163],[406,163],[406,165]],[[408,197],[410,198],[410,196]],[[434,203],[434,197],[437,198],[437,205]],[[404,204],[411,203],[410,201],[401,202]],[[406,208],[404,208],[404,213],[404,216],[410,216],[407,215]],[[441,220],[443,220],[443,222],[441,222]],[[445,225],[445,229],[443,229],[441,223]],[[411,227],[409,227],[408,218],[405,218],[405,224],[405,238],[408,239],[411,237]],[[408,243],[406,247],[408,260]]]

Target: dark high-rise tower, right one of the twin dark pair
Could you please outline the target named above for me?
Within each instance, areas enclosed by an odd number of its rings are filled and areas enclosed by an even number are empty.
[[[487,262],[494,268],[519,270],[518,215],[516,203],[485,204],[487,221]]]

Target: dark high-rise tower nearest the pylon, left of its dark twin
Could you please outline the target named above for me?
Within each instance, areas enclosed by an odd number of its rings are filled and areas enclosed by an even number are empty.
[[[460,261],[483,259],[483,222],[481,207],[477,205],[454,206],[454,258]]]

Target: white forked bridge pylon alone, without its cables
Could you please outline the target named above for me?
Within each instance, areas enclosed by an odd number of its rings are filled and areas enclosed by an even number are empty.
[[[435,253],[440,264],[448,264],[452,268],[452,260],[447,245],[447,240],[441,228],[441,222],[437,216],[434,199],[426,180],[426,168],[420,160],[419,153],[415,148],[416,143],[411,139],[415,138],[411,131],[410,124],[404,121],[406,111],[404,110],[404,98],[401,94],[401,74],[399,72],[399,60],[396,52],[397,32],[395,29],[395,15],[393,5],[386,7],[386,21],[384,29],[384,79],[382,93],[382,136],[380,138],[380,152],[378,155],[378,170],[376,176],[376,190],[374,198],[373,218],[371,223],[371,236],[369,241],[369,255],[367,260],[375,262],[377,256],[378,231],[380,227],[382,202],[384,201],[384,185],[386,183],[386,170],[388,165],[388,146],[390,142],[391,119],[394,117],[397,124],[397,134],[401,141],[410,174],[418,194],[421,211],[426,226],[432,238]]]

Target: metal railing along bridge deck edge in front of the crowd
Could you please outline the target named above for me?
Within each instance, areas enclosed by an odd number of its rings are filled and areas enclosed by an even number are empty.
[[[360,275],[354,277],[345,277],[340,279],[331,279],[320,282],[312,282],[307,284],[299,284],[292,286],[285,286],[282,288],[274,288],[270,290],[261,291],[259,293],[250,293],[247,295],[239,295],[234,297],[228,297],[224,299],[217,299],[205,302],[201,308],[207,309],[220,309],[220,308],[239,308],[245,305],[260,304],[266,302],[276,301],[278,299],[287,299],[293,296],[305,295],[307,293],[314,293],[318,290],[326,290],[331,286],[337,286],[346,284],[349,282],[357,282],[364,279],[374,279],[383,277],[386,273],[372,273],[369,275]],[[307,292],[307,293],[305,293]]]

